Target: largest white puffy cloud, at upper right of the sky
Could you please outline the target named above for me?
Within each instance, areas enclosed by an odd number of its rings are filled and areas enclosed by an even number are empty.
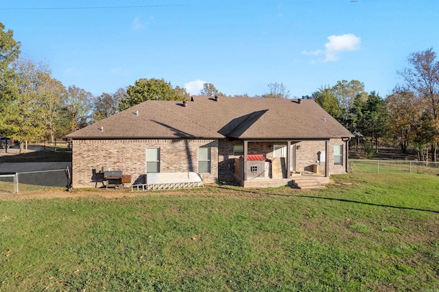
[[[302,55],[317,57],[324,54],[323,62],[331,62],[337,60],[340,53],[344,51],[359,50],[361,44],[361,38],[355,36],[355,34],[332,35],[328,36],[328,40],[329,42],[324,44],[324,50],[302,51]]]

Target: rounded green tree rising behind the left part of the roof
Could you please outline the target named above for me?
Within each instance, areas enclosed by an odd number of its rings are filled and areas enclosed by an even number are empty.
[[[134,85],[128,86],[127,96],[119,105],[119,110],[126,110],[132,106],[147,100],[175,100],[183,101],[189,99],[189,93],[185,88],[176,86],[163,79],[139,79]]]

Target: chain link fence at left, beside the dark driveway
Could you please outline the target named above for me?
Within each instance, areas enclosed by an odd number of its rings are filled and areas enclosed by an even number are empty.
[[[49,188],[69,188],[70,185],[71,172],[69,168],[0,175],[0,193],[41,191]]]

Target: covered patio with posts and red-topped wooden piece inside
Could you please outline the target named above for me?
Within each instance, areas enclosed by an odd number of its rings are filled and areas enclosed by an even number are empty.
[[[313,188],[329,182],[330,139],[244,139],[242,143],[244,153],[235,158],[233,174],[241,186]],[[262,144],[269,144],[269,149],[263,150]]]

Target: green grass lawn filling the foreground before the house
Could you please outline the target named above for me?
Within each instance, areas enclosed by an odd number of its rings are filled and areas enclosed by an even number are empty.
[[[438,176],[99,192],[0,201],[0,291],[439,289]]]

